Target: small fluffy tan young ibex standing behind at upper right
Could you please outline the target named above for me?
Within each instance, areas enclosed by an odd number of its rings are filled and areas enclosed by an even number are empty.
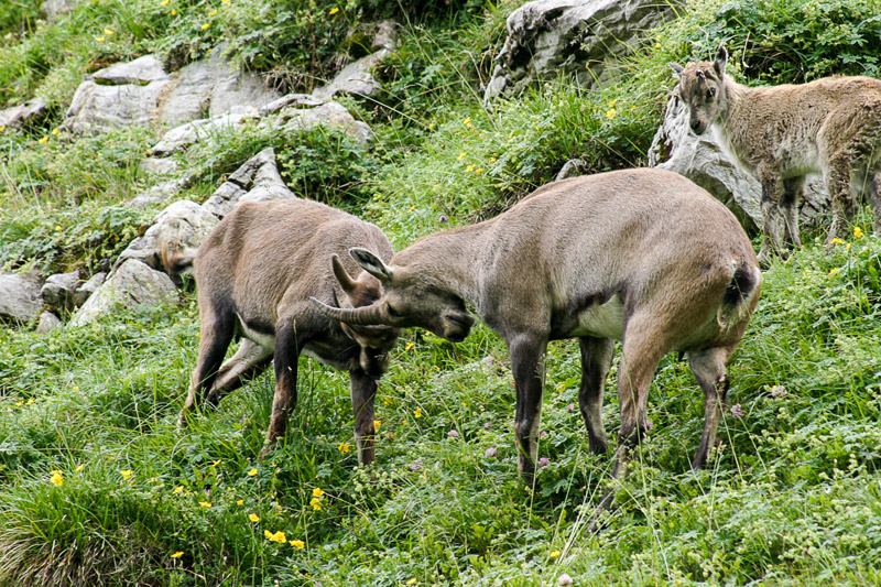
[[[671,67],[695,134],[713,128],[722,149],[762,184],[760,258],[784,243],[801,246],[798,204],[812,172],[823,174],[833,203],[827,243],[852,220],[851,191],[868,196],[881,233],[881,81],[828,77],[749,88],[725,74],[727,62],[719,47],[713,63]]]

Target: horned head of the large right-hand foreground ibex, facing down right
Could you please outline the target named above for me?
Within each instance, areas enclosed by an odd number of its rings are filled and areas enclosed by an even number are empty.
[[[433,283],[424,274],[387,265],[367,249],[354,248],[349,253],[367,273],[380,281],[382,293],[368,306],[348,308],[328,306],[313,297],[313,303],[327,317],[349,328],[418,326],[454,343],[464,340],[471,331],[475,318],[465,309],[461,297]],[[340,281],[336,263],[334,273]]]

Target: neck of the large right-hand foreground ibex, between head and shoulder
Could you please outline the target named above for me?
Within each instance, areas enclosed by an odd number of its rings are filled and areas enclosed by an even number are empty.
[[[423,237],[392,259],[392,264],[418,272],[436,286],[478,304],[480,257],[492,220]]]

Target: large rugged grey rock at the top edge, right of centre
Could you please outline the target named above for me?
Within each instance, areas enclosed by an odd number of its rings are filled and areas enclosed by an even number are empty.
[[[508,37],[483,98],[516,95],[561,73],[584,87],[601,85],[609,80],[609,61],[626,56],[645,31],[673,15],[672,3],[655,0],[527,2],[508,17]]]

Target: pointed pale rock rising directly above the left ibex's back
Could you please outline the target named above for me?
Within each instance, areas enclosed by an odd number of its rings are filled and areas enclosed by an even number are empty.
[[[222,218],[239,202],[294,197],[296,196],[287,188],[275,166],[275,151],[268,148],[236,170],[202,207]]]

